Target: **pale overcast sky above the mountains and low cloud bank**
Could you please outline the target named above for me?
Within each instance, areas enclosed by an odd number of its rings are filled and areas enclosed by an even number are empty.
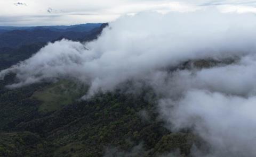
[[[0,0],[0,25],[70,25],[111,22],[138,12],[191,12],[216,6],[222,12],[256,13],[256,1],[239,0]]]

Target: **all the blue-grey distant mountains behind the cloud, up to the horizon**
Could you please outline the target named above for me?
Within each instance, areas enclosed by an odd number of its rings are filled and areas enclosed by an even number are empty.
[[[44,47],[47,42],[54,42],[64,38],[80,42],[96,39],[107,25],[107,23],[89,23],[54,26],[55,28],[52,26],[0,27],[0,70],[29,58]],[[9,30],[1,30],[1,28]],[[13,30],[14,28],[17,29]],[[54,29],[60,30],[60,28],[62,31],[54,31]]]

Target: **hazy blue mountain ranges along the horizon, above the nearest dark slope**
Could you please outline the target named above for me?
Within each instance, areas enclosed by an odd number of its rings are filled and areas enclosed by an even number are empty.
[[[91,36],[90,34],[97,32],[101,25],[100,23],[87,23],[71,26],[0,27],[0,48],[18,48],[23,45],[62,38],[82,41],[87,36]]]

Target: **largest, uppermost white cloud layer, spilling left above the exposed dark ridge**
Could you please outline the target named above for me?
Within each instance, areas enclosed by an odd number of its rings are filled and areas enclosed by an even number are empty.
[[[241,23],[242,19],[248,21]],[[73,76],[89,82],[92,93],[111,90],[127,79],[141,79],[156,69],[188,59],[253,53],[256,23],[252,19],[250,14],[222,14],[215,10],[125,16],[110,23],[96,41],[85,45],[68,40],[49,43],[33,57],[0,74],[17,73],[20,82],[11,87],[31,80]]]

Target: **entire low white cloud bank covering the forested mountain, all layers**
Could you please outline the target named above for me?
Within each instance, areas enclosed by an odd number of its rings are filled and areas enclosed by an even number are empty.
[[[148,12],[110,23],[92,42],[49,43],[0,78],[16,73],[19,82],[9,88],[18,88],[68,77],[89,84],[87,96],[143,80],[161,97],[167,126],[193,129],[210,144],[209,156],[255,156],[255,51],[253,14]],[[170,71],[198,59],[235,61]]]

